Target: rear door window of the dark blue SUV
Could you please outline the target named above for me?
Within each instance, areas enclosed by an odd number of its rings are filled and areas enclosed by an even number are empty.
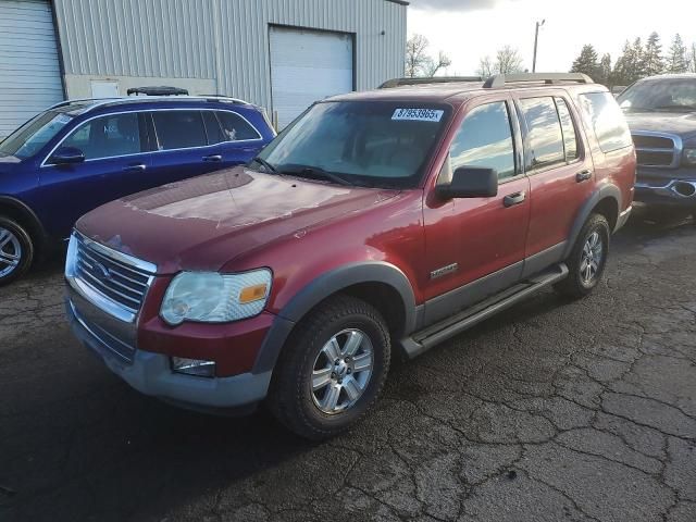
[[[200,111],[154,111],[160,150],[188,149],[208,145]]]

